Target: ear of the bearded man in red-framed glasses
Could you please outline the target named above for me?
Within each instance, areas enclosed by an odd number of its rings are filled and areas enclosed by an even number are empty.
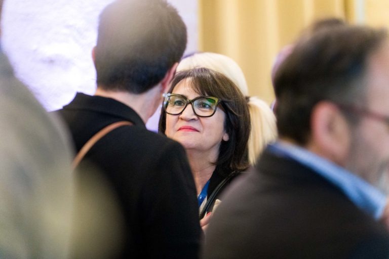
[[[312,110],[310,149],[321,156],[342,164],[350,145],[349,125],[339,108],[327,101]]]

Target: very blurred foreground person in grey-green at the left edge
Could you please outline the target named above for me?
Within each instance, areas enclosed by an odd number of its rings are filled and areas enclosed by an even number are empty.
[[[73,177],[61,126],[0,51],[1,258],[69,256]]]

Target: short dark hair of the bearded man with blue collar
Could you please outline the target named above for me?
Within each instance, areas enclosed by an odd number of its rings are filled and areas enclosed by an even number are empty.
[[[386,37],[385,30],[349,25],[302,37],[275,76],[280,137],[307,144],[311,112],[320,101],[363,102],[367,59]]]

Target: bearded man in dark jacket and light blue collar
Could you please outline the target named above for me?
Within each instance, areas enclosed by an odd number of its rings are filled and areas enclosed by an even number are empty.
[[[205,258],[389,258],[388,71],[384,30],[297,42],[275,77],[279,141],[218,207]]]

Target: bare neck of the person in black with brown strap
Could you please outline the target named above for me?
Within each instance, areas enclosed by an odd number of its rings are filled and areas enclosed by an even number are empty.
[[[97,87],[95,96],[111,98],[131,107],[144,123],[158,107],[161,97],[154,89],[142,94],[131,94],[125,91],[109,91]]]

